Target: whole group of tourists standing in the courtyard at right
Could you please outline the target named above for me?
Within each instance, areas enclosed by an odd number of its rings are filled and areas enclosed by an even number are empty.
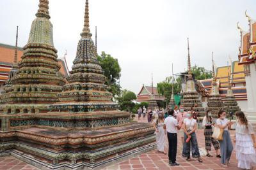
[[[145,117],[144,110],[142,111],[143,117]],[[139,111],[141,110],[139,109]],[[150,119],[151,112],[152,121]],[[168,116],[166,117],[165,115]],[[192,153],[193,158],[198,159],[198,162],[202,162],[196,139],[196,129],[198,127],[196,115],[196,111],[193,108],[185,112],[183,106],[179,108],[175,106],[174,110],[169,108],[165,111],[148,110],[148,120],[156,128],[157,150],[164,154],[168,153],[171,166],[179,166],[179,163],[176,162],[178,136],[181,138],[183,145],[182,156],[186,157],[187,161],[191,161]],[[256,166],[256,141],[253,127],[248,122],[243,111],[237,111],[236,118],[236,136],[231,139],[228,130],[231,129],[233,123],[226,118],[226,112],[223,110],[218,111],[218,118],[214,120],[211,111],[206,111],[202,121],[206,156],[212,157],[209,151],[211,151],[211,145],[213,145],[216,157],[220,158],[221,165],[228,167],[233,150],[233,140],[236,159],[238,160],[237,167],[251,169]]]

